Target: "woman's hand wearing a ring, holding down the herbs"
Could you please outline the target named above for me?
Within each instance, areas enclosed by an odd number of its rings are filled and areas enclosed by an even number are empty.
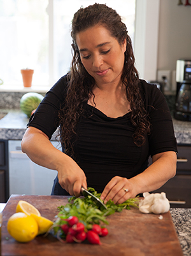
[[[104,203],[111,199],[115,204],[122,204],[127,199],[136,197],[136,195],[136,185],[131,180],[115,176],[104,188],[101,199]]]

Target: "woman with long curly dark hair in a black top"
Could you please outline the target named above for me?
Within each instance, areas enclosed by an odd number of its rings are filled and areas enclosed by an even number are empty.
[[[94,4],[75,13],[71,36],[71,72],[32,115],[23,152],[57,170],[53,195],[88,186],[118,204],[161,187],[176,173],[173,123],[160,90],[139,80],[125,24]],[[64,153],[49,141],[58,126]]]

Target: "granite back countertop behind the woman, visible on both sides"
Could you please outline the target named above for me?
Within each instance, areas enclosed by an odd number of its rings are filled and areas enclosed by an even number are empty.
[[[0,120],[0,139],[22,139],[29,121],[27,115],[20,110],[3,111],[4,113],[7,111],[8,114]],[[191,145],[191,122],[175,120],[173,118],[173,124],[177,143]]]

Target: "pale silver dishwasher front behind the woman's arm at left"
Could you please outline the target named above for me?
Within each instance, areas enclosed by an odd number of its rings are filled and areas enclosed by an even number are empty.
[[[57,141],[55,148],[61,150]],[[21,141],[8,141],[9,190],[11,194],[50,196],[57,171],[38,166],[21,151]]]

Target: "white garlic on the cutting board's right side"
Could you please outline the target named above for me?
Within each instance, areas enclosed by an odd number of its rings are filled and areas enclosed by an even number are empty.
[[[142,213],[160,214],[167,213],[170,209],[170,203],[164,192],[155,194],[145,192],[143,197],[144,199],[139,201],[139,211]]]

